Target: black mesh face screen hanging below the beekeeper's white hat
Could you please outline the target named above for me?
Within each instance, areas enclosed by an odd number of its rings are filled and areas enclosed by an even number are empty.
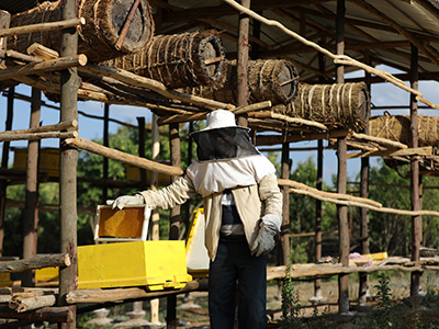
[[[199,161],[259,155],[247,128],[230,127],[192,134]]]

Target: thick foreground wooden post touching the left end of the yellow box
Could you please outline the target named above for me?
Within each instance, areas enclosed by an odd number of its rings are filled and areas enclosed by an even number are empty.
[[[77,1],[66,0],[61,4],[63,20],[76,19]],[[77,56],[78,33],[75,27],[61,32],[61,57]],[[78,120],[78,88],[77,68],[60,71],[60,121]],[[59,159],[59,203],[60,203],[60,251],[70,257],[71,265],[59,269],[59,306],[67,306],[66,296],[76,290],[78,281],[78,237],[77,237],[77,164],[78,150],[60,143]],[[69,306],[72,320],[63,322],[63,329],[76,328],[76,306]]]

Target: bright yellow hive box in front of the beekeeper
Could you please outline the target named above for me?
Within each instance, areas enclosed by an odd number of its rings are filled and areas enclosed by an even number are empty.
[[[184,241],[133,241],[78,247],[78,288],[181,288],[192,276]]]

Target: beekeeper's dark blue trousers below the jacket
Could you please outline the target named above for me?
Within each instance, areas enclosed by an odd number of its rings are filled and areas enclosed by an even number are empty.
[[[238,283],[239,329],[267,327],[267,256],[252,257],[246,239],[222,242],[209,270],[211,329],[233,329]]]

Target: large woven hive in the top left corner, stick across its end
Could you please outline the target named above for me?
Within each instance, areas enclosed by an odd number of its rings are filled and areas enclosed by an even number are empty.
[[[78,26],[78,53],[86,54],[90,63],[98,63],[137,52],[150,43],[154,21],[147,0],[140,0],[126,35],[121,35],[134,2],[135,0],[79,0],[78,15],[86,19],[86,24]],[[60,0],[43,2],[13,15],[11,27],[56,21],[61,21]],[[120,37],[123,43],[116,46]],[[61,32],[56,30],[9,37],[8,48],[26,53],[26,48],[33,43],[59,52]]]

